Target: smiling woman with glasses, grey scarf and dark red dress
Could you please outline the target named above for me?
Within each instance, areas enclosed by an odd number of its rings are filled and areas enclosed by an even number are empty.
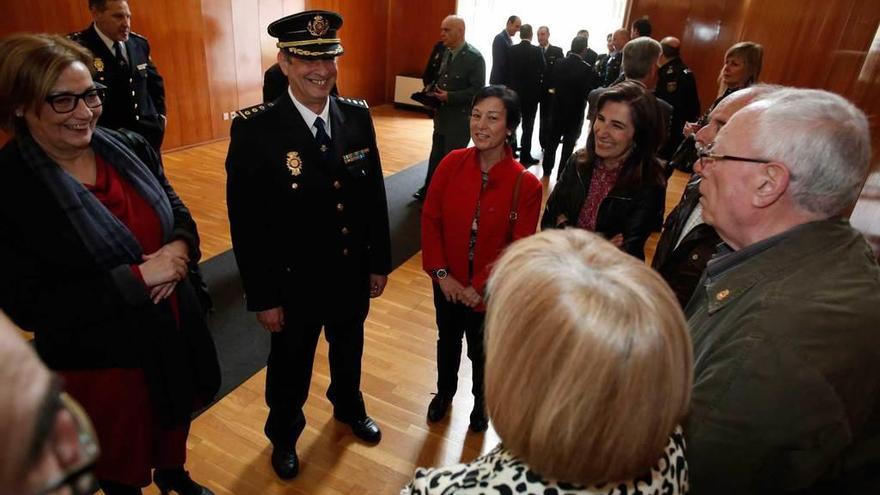
[[[211,493],[183,469],[190,417],[219,385],[186,278],[195,223],[159,156],[96,127],[91,54],[54,35],[0,41],[0,307],[91,416],[105,494]]]

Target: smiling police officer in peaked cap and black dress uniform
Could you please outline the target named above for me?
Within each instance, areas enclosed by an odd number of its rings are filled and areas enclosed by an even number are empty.
[[[312,10],[269,25],[287,97],[233,120],[226,159],[232,244],[248,310],[272,332],[266,376],[272,467],[299,470],[315,347],[329,343],[333,415],[358,438],[381,432],[360,392],[364,320],[391,271],[388,206],[363,100],[331,96],[342,17]]]

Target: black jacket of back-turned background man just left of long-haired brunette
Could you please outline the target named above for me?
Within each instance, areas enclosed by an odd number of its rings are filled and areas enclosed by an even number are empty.
[[[596,72],[581,57],[569,53],[553,66],[547,82],[553,93],[553,127],[565,129],[583,125],[587,95],[599,84]]]

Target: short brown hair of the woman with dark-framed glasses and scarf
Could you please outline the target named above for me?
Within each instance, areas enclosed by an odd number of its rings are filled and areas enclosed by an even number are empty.
[[[24,125],[17,110],[38,111],[52,86],[70,64],[92,70],[92,54],[55,34],[15,34],[0,41],[0,129]]]

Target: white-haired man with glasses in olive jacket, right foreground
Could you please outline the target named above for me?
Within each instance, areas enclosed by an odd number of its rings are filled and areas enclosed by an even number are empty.
[[[724,243],[685,310],[695,493],[880,486],[880,268],[843,218],[870,158],[861,111],[799,89],[703,150],[702,218]]]

